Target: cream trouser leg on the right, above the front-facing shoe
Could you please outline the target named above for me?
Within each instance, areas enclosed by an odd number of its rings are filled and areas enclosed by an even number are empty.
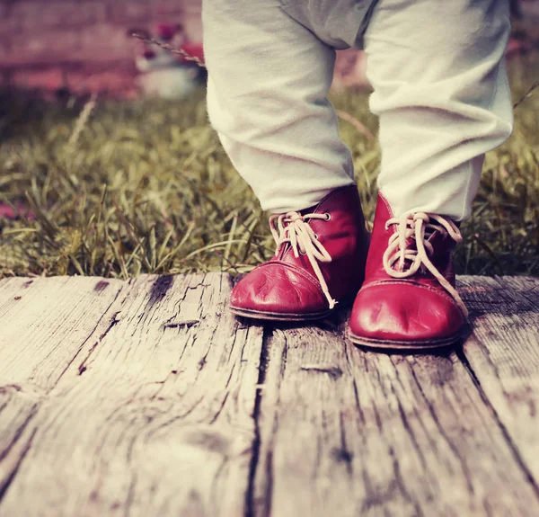
[[[399,215],[470,214],[483,154],[511,132],[507,0],[379,0],[365,43],[378,184]]]

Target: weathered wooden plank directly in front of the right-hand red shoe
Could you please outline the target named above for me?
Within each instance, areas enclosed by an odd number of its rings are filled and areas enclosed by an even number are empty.
[[[343,339],[345,316],[270,337],[254,514],[539,514],[457,355],[361,351]]]

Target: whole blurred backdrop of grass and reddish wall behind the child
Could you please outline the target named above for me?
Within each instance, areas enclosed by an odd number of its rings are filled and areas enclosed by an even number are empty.
[[[200,10],[0,0],[0,278],[247,272],[273,253],[208,125],[205,70],[185,58],[203,60]],[[539,274],[539,0],[511,13],[515,130],[486,157],[458,272]],[[365,70],[362,52],[340,51],[331,102],[368,220],[380,149]]]

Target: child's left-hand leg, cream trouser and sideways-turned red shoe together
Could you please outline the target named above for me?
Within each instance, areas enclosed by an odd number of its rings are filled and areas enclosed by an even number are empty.
[[[327,316],[363,281],[367,229],[349,150],[326,99],[331,45],[349,43],[326,31],[324,15],[348,15],[358,2],[334,0],[320,12],[307,2],[282,4],[287,12],[279,0],[204,1],[208,113],[262,208],[281,214],[270,219],[275,255],[234,286],[230,308],[303,321]],[[347,40],[362,31],[370,0],[363,4],[356,18],[336,23]]]

